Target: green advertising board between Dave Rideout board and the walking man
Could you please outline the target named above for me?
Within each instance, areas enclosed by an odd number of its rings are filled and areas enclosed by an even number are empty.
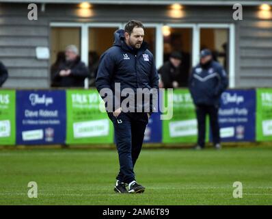
[[[66,90],[66,143],[113,143],[113,125],[96,90]]]

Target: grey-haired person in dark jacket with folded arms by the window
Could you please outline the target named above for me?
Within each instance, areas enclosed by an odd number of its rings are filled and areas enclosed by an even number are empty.
[[[79,58],[76,46],[69,45],[65,51],[66,60],[59,64],[53,77],[53,84],[60,87],[84,87],[84,80],[90,77],[89,70]]]

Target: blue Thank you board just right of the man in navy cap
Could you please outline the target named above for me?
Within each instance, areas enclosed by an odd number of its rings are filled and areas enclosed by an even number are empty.
[[[227,90],[221,95],[219,127],[222,142],[254,142],[256,91]],[[210,142],[213,138],[210,131]]]

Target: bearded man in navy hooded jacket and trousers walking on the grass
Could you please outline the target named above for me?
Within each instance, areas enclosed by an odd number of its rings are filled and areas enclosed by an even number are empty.
[[[144,25],[140,21],[129,21],[124,30],[115,31],[114,38],[113,47],[100,57],[96,88],[104,101],[106,97],[111,100],[105,103],[108,116],[114,126],[120,162],[120,172],[116,177],[114,191],[140,193],[144,192],[145,188],[136,183],[133,168],[141,151],[148,118],[154,111],[154,107],[149,101],[148,112],[139,112],[141,104],[135,101],[135,104],[129,105],[130,110],[127,112],[120,107],[124,98],[118,98],[117,93],[129,88],[133,90],[135,98],[137,88],[157,90],[159,76],[153,55],[147,49],[146,42],[143,41]],[[119,84],[120,88],[116,84]],[[103,90],[107,89],[113,94],[103,94]],[[140,106],[142,110],[147,107],[144,104]],[[127,185],[128,191],[126,190]]]

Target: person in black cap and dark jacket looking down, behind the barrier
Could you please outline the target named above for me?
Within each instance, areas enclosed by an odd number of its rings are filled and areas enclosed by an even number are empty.
[[[181,65],[182,56],[178,51],[171,53],[169,61],[159,69],[163,88],[178,88],[182,84]]]

